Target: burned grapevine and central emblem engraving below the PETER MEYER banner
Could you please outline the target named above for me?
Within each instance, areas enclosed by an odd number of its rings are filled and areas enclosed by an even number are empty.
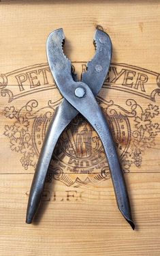
[[[159,115],[159,106],[148,104],[146,109],[142,109],[135,100],[129,99],[126,101],[127,108],[124,109],[112,100],[106,102],[99,98],[98,101],[114,135],[123,171],[129,172],[131,165],[140,167],[143,152],[155,145],[155,137],[160,132],[159,124],[154,122],[155,117]],[[11,150],[21,154],[20,162],[26,170],[29,167],[35,168],[46,128],[54,115],[54,104],[49,100],[48,106],[39,109],[38,102],[30,100],[21,109],[15,109],[15,106],[5,107],[3,114],[6,118],[12,119],[12,125],[5,125],[3,133],[10,139]],[[129,122],[131,119],[132,126]],[[108,166],[101,164],[105,158],[99,137],[88,122],[78,115],[59,139],[51,162],[52,170],[49,171],[46,180],[51,182],[54,178],[67,186],[106,180],[110,173]],[[58,167],[59,164],[56,165],[56,162],[61,162],[62,166]],[[93,175],[98,165],[101,165],[101,171]],[[65,166],[67,172],[69,170],[70,173],[74,173],[73,175],[80,173],[86,175],[86,178],[82,181],[80,177],[75,176],[73,180],[63,169]],[[80,169],[81,167],[85,168]]]

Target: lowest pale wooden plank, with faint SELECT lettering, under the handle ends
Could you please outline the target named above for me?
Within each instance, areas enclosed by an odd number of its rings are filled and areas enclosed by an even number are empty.
[[[33,175],[1,175],[1,255],[159,255],[160,175],[126,174],[135,231],[103,188],[46,184],[33,225],[25,223]]]

